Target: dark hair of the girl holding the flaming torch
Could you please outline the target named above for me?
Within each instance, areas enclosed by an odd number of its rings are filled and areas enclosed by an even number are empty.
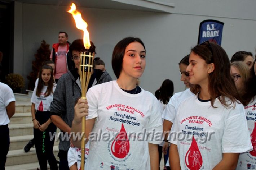
[[[144,43],[141,41],[140,38],[126,37],[123,40],[119,41],[116,44],[116,46],[113,50],[113,54],[112,54],[112,68],[114,70],[116,78],[119,78],[119,75],[120,75],[121,70],[122,70],[122,64],[123,64],[125,49],[132,42],[140,43],[146,51]]]

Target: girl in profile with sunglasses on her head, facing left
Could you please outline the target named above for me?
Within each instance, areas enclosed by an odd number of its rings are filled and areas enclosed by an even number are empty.
[[[191,50],[186,71],[195,95],[177,108],[171,169],[235,169],[239,153],[252,145],[229,58],[221,46],[206,41]]]

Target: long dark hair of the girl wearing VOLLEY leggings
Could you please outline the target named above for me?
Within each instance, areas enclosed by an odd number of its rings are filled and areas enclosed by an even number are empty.
[[[53,83],[54,83],[54,79],[53,79],[53,70],[52,67],[49,65],[43,65],[39,71],[39,79],[38,79],[38,85],[37,85],[37,89],[36,89],[36,96],[40,97],[41,95],[41,91],[44,87],[44,81],[42,79],[42,72],[43,69],[50,69],[51,70],[51,77],[50,80],[48,82],[48,86],[45,92],[45,97],[49,96],[51,93],[53,93]]]

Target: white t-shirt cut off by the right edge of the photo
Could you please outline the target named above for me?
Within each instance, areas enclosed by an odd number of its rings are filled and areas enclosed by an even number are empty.
[[[253,150],[240,154],[237,170],[256,169],[256,99],[252,100],[244,109]]]

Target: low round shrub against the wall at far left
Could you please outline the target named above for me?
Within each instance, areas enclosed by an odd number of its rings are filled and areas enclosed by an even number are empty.
[[[24,78],[20,74],[10,73],[6,75],[5,82],[12,88],[14,93],[20,93],[21,88],[25,87]]]

